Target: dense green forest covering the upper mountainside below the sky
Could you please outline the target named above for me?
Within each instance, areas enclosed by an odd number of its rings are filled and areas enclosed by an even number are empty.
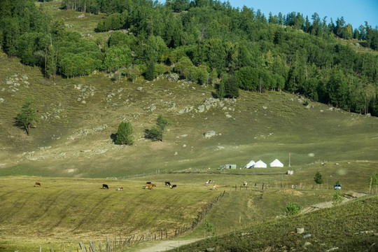
[[[41,1],[41,0],[40,0]],[[95,32],[69,31],[33,0],[3,0],[0,48],[46,78],[117,73],[130,81],[163,73],[214,85],[216,95],[285,90],[346,111],[378,116],[378,29],[317,13],[270,14],[214,0],[62,0],[62,9],[106,13]],[[363,50],[360,50],[363,48]]]

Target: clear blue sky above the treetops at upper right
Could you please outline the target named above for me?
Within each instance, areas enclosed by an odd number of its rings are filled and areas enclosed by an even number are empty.
[[[260,9],[268,17],[269,12],[273,15],[286,15],[291,12],[302,13],[304,18],[318,13],[323,20],[327,16],[327,23],[332,18],[336,23],[337,18],[344,17],[346,24],[350,23],[353,29],[360,25],[365,26],[365,21],[373,28],[378,25],[378,0],[229,0],[231,6],[242,8],[247,6],[253,10]]]

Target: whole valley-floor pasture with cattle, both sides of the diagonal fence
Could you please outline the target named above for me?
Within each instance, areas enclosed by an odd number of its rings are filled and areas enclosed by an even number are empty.
[[[104,241],[106,235],[130,237],[162,228],[174,232],[178,226],[191,225],[198,212],[225,192],[206,216],[214,223],[216,234],[222,235],[281,216],[288,202],[308,207],[331,201],[336,179],[342,183],[344,193],[366,192],[367,178],[377,171],[377,165],[377,162],[340,162],[328,167],[321,164],[292,167],[293,175],[278,174],[279,168],[265,169],[264,175],[260,174],[262,169],[243,171],[247,172],[244,174],[211,174],[218,190],[209,190],[210,186],[204,184],[209,174],[197,173],[107,181],[45,177],[41,188],[33,186],[40,177],[0,177],[0,229],[7,230],[1,235],[0,247],[35,251],[39,244],[57,249],[64,243],[66,249],[76,250],[78,241]],[[317,187],[313,177],[319,169],[325,183]],[[248,189],[242,186],[247,179]],[[167,180],[175,181],[180,190],[168,190]],[[154,181],[157,186],[141,190],[145,181]],[[127,193],[99,190],[102,183],[109,188],[121,185]],[[294,183],[301,188],[289,188]],[[200,223],[186,237],[202,237],[203,225]],[[46,239],[50,240],[48,245]]]

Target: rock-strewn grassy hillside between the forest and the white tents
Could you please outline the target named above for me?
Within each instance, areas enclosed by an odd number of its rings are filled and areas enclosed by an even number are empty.
[[[106,73],[46,80],[36,68],[2,55],[1,172],[48,176],[121,176],[155,170],[218,168],[275,158],[291,165],[376,158],[377,118],[346,113],[293,94],[241,92],[214,99],[214,87],[169,81],[115,81]],[[30,137],[15,116],[34,97],[38,122]],[[169,119],[162,142],[145,139],[159,114]],[[122,121],[133,146],[113,143]],[[204,133],[214,131],[213,137]]]

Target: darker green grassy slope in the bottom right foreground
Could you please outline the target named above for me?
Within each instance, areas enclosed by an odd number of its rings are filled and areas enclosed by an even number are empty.
[[[377,196],[368,197],[301,216],[251,223],[248,229],[172,251],[377,251],[377,210]],[[304,228],[304,233],[293,234],[295,228]]]

